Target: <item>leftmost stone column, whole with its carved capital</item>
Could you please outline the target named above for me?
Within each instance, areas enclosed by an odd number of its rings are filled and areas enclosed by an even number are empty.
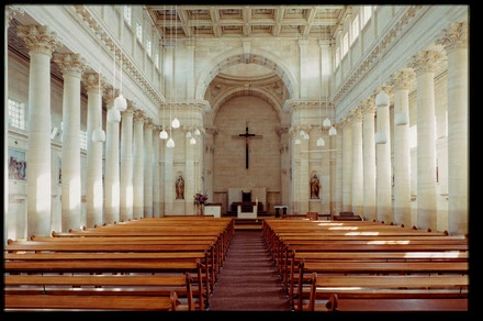
[[[27,235],[50,235],[50,58],[60,45],[55,32],[42,25],[19,25],[18,35],[30,55]],[[7,104],[8,106],[8,104]]]

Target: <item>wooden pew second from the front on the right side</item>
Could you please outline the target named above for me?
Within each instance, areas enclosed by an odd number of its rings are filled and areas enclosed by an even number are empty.
[[[468,275],[441,276],[319,276],[312,274],[310,291],[303,291],[299,309],[324,311],[330,295],[344,299],[437,299],[468,298]]]

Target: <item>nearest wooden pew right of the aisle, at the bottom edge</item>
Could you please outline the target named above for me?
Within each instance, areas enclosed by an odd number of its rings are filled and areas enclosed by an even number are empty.
[[[341,299],[333,294],[326,305],[327,311],[346,312],[449,312],[468,311],[468,298],[447,299]]]

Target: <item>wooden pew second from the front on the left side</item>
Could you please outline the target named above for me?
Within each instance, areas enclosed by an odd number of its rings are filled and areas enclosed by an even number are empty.
[[[7,295],[156,296],[176,292],[177,310],[195,310],[191,275],[4,275]],[[204,307],[198,302],[198,307]]]

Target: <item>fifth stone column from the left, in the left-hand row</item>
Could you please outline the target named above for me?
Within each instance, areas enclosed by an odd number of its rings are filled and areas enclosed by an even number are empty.
[[[133,103],[122,113],[121,122],[121,221],[133,219]]]

